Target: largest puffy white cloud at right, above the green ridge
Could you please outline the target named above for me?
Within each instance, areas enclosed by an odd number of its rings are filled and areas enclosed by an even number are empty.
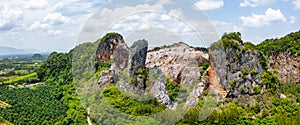
[[[286,18],[281,13],[280,9],[273,10],[272,8],[268,8],[265,14],[257,15],[252,14],[252,16],[242,16],[239,17],[240,20],[243,21],[243,26],[245,27],[262,27],[271,25],[271,23],[275,22],[285,22]]]

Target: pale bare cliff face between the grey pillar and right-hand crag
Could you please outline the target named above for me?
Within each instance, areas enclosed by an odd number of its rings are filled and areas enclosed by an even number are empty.
[[[208,53],[179,42],[148,52],[146,67],[150,69],[150,71],[152,71],[152,69],[161,71],[160,73],[150,72],[150,75],[160,74],[160,76],[164,76],[171,82],[175,82],[181,86],[189,86],[191,92],[186,98],[187,102],[185,105],[193,106],[198,103],[199,97],[208,85],[208,81],[203,80],[201,77],[204,73],[200,74],[203,65],[208,63],[207,59]],[[169,99],[168,93],[164,90],[164,80],[162,77],[156,79],[157,80],[154,80],[151,84],[151,86],[154,86],[154,89],[151,88],[152,93],[156,93],[155,96],[159,97],[158,100],[162,100],[160,102],[168,105],[171,104],[172,102]],[[174,105],[176,105],[176,103]]]

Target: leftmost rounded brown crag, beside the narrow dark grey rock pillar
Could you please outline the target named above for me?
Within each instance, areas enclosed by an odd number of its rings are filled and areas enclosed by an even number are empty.
[[[108,33],[102,38],[96,51],[96,63],[111,62],[112,65],[109,70],[102,71],[97,81],[100,89],[118,81],[121,71],[128,65],[128,55],[128,46],[120,34]]]

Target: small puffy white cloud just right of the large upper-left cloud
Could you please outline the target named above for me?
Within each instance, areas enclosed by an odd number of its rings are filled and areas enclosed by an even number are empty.
[[[70,21],[69,17],[62,16],[61,13],[50,13],[48,14],[44,20],[45,23],[49,23],[51,25],[61,25],[68,23]]]

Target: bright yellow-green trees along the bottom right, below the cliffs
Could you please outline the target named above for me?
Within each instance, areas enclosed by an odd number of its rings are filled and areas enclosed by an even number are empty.
[[[199,121],[200,111],[203,110],[204,100],[199,100],[197,106],[190,108],[181,124],[289,124],[296,125],[300,120],[300,106],[293,97],[280,99],[278,94],[259,94],[253,96],[257,102],[229,101],[221,102],[216,110],[204,121]]]

